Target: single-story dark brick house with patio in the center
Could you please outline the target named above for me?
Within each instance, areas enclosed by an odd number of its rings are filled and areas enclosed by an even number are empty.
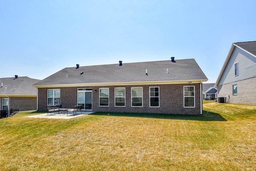
[[[38,110],[47,105],[85,111],[202,114],[202,82],[194,59],[64,68],[34,84]]]

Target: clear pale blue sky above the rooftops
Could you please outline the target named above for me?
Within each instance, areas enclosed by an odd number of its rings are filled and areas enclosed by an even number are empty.
[[[0,78],[194,58],[215,83],[233,42],[256,40],[255,0],[0,0]]]

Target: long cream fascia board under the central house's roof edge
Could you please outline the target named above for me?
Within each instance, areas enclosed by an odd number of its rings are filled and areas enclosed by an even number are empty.
[[[114,83],[84,83],[84,84],[54,84],[54,85],[33,85],[36,88],[48,88],[48,87],[85,87],[85,86],[106,86],[106,85],[151,85],[151,84],[188,84],[192,82],[201,83],[205,80],[177,80],[177,81],[150,81],[150,82],[114,82]]]

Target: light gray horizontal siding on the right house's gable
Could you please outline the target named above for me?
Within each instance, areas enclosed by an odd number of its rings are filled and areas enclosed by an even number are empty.
[[[235,76],[235,63],[238,62],[238,75]],[[256,77],[256,58],[244,50],[235,47],[218,85],[238,82]]]

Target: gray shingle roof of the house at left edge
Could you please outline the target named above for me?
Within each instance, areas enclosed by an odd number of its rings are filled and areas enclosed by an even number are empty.
[[[29,77],[0,78],[0,95],[36,95],[36,88],[32,85],[39,81]]]

